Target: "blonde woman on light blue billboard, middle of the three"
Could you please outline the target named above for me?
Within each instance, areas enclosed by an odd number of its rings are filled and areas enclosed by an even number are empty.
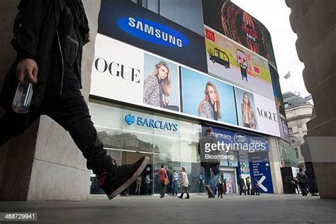
[[[222,116],[220,114],[220,100],[215,84],[207,82],[204,94],[205,97],[198,106],[198,116],[218,121]]]

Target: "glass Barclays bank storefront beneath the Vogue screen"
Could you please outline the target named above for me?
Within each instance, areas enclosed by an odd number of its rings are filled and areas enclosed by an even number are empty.
[[[169,176],[167,194],[172,193],[173,170],[180,174],[182,166],[186,168],[189,177],[190,192],[204,192],[203,169],[199,164],[197,151],[201,125],[174,116],[94,100],[89,103],[89,109],[99,138],[108,155],[116,159],[117,164],[129,164],[141,156],[150,157],[148,167],[143,174],[144,186],[141,194],[160,192],[157,174],[161,164],[164,164]],[[142,123],[138,122],[139,117]],[[144,124],[144,119],[148,122],[151,119],[153,122],[159,121],[160,125],[153,128],[151,125]],[[164,128],[165,123],[171,127],[174,125],[174,130]],[[145,184],[147,174],[150,174],[152,179],[150,192],[147,191]],[[91,180],[91,183],[95,182]],[[133,185],[128,189],[130,194],[135,192]],[[91,187],[91,194],[103,194],[103,192],[94,186]]]

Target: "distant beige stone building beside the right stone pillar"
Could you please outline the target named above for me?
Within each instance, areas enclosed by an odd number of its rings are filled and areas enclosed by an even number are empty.
[[[291,137],[291,149],[295,151],[298,168],[303,168],[305,161],[301,155],[301,145],[304,142],[303,136],[307,135],[307,123],[310,121],[314,106],[302,96],[291,92],[286,92],[282,96]]]

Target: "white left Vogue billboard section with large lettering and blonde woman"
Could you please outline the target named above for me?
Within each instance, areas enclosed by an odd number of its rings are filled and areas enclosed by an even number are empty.
[[[179,111],[178,65],[162,57],[97,34],[92,77],[93,95]]]

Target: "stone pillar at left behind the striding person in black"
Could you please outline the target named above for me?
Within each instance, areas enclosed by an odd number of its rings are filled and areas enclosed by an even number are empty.
[[[82,58],[82,94],[87,101],[101,1],[83,0],[83,3],[91,29],[91,43],[84,47]],[[14,0],[0,3],[1,85],[15,57],[9,41],[17,5]],[[90,172],[69,133],[47,116],[41,116],[23,135],[0,149],[0,189],[2,200],[86,200]]]

